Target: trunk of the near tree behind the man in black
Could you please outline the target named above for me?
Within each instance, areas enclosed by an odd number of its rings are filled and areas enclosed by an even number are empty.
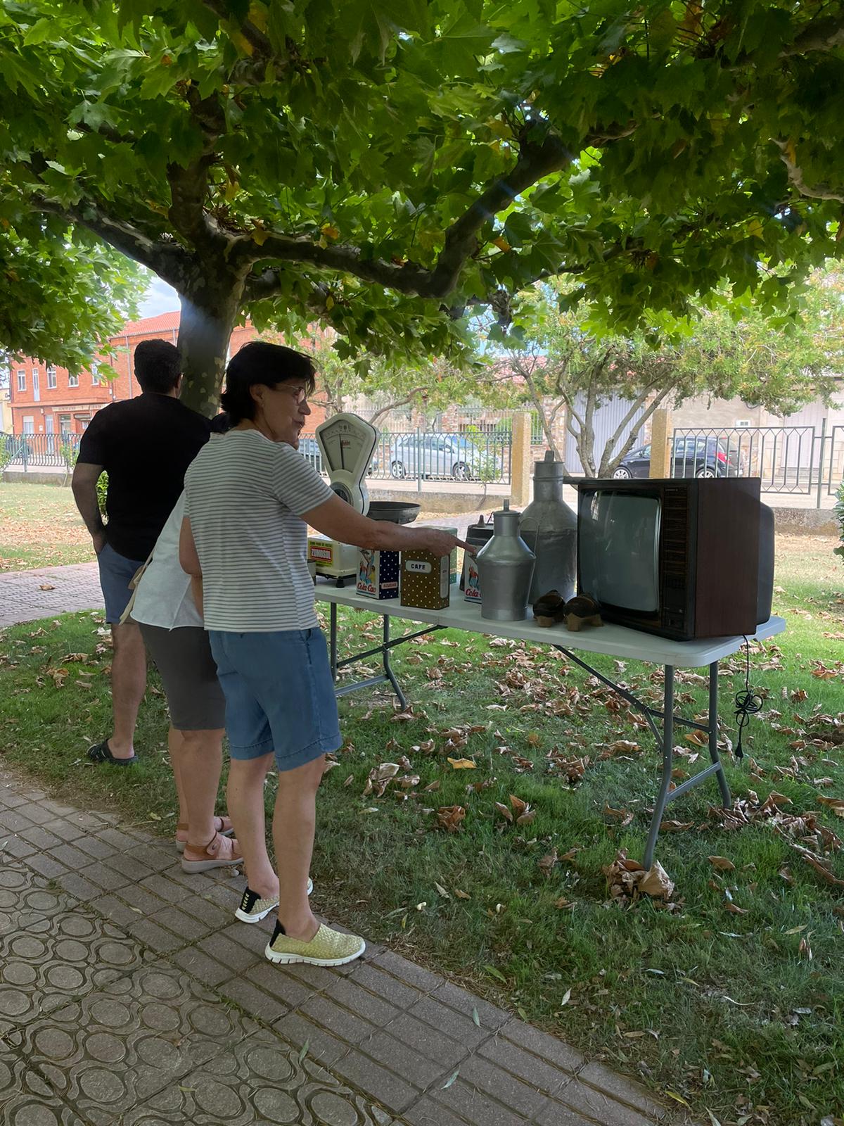
[[[219,410],[228,341],[240,310],[243,280],[208,275],[192,293],[181,293],[179,351],[182,363],[181,401],[212,418]]]

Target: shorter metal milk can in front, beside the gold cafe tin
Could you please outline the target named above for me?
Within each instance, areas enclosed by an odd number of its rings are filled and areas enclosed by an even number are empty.
[[[535,555],[519,535],[519,516],[504,508],[493,512],[494,534],[476,555],[483,598],[481,617],[521,622],[528,616],[528,595]]]

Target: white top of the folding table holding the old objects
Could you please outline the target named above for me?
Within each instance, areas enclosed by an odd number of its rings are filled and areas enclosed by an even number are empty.
[[[603,653],[630,661],[673,664],[679,669],[697,669],[703,664],[711,664],[712,661],[719,661],[722,656],[738,652],[744,644],[744,637],[740,635],[706,637],[701,641],[670,641],[667,637],[657,637],[654,634],[612,624],[600,627],[584,626],[578,633],[572,633],[563,624],[539,626],[532,618],[522,622],[488,622],[481,617],[481,607],[475,602],[464,601],[463,593],[456,589],[452,590],[451,605],[442,610],[422,610],[416,606],[402,606],[397,598],[377,601],[374,598],[365,598],[351,588],[338,588],[318,581],[316,598],[317,601],[335,602],[338,606],[350,606],[356,610],[383,614],[390,618],[423,622],[446,626],[449,629],[488,634],[493,637],[513,637],[517,641],[530,641],[537,644],[562,645],[564,649]],[[761,625],[752,636],[762,641],[765,637],[774,637],[784,629],[784,619],[773,617]]]

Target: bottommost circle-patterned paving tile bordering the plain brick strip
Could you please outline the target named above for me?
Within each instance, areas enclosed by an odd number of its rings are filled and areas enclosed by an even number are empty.
[[[263,1029],[170,1082],[120,1126],[387,1126],[392,1115]]]

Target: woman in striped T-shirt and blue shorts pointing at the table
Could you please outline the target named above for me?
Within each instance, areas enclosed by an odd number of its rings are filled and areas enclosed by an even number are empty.
[[[437,555],[459,540],[369,520],[332,492],[296,452],[313,387],[312,360],[289,348],[254,341],[232,358],[223,406],[233,429],[208,443],[186,474],[180,558],[204,607],[226,697],[228,811],[249,884],[237,917],[253,921],[278,906],[264,951],[271,962],[341,965],[363,953],[363,939],[321,926],[307,900],[316,788],[325,753],[341,744],[305,557],[307,527],[360,547]],[[277,872],[263,820],[273,762]]]

